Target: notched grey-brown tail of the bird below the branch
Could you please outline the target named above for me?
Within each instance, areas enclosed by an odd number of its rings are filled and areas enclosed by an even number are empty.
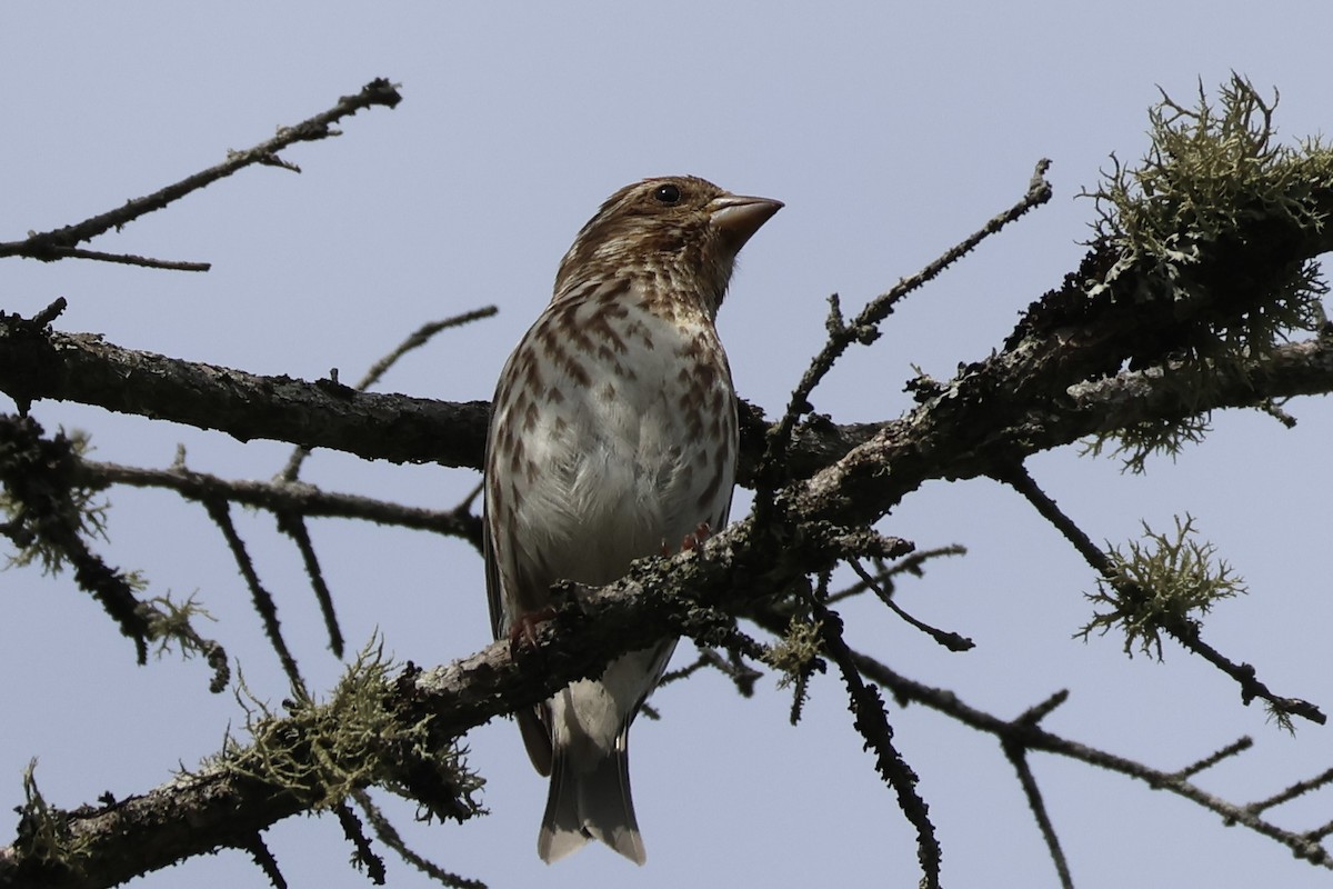
[[[609,753],[580,757],[556,750],[551,769],[547,813],[537,834],[537,854],[547,864],[601,840],[635,864],[644,864],[644,840],[639,836],[635,802],[629,796],[628,733]]]

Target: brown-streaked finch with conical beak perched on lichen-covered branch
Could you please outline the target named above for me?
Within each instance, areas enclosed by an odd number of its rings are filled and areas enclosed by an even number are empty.
[[[714,320],[736,255],[781,207],[696,176],[645,179],[575,237],[492,401],[483,549],[496,640],[531,641],[553,613],[552,584],[603,586],[726,522],[736,393]],[[515,714],[551,777],[537,834],[548,864],[591,840],[647,860],[629,726],[674,646],[629,652]]]

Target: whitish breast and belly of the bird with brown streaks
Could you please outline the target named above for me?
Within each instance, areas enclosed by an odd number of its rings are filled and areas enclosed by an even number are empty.
[[[525,344],[531,392],[505,399],[500,421],[521,429],[515,529],[552,580],[611,582],[721,525],[736,397],[708,319],[632,299],[553,304]]]

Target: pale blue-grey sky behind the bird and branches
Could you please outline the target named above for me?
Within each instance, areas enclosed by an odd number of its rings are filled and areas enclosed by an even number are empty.
[[[0,16],[0,240],[148,193],[373,77],[400,83],[404,101],[344,121],[337,140],[288,151],[300,176],[247,169],[92,244],[209,261],[207,275],[8,260],[0,308],[31,315],[64,296],[59,329],[257,373],[313,380],[336,367],[355,380],[419,324],[496,304],[499,317],[443,335],[381,385],[485,399],[601,200],[644,176],[696,173],[786,204],[745,248],[720,320],[741,396],[773,416],[822,340],[830,292],[860,307],[1014,203],[1050,157],[1054,200],[913,295],[814,393],[837,421],[882,420],[909,405],[912,365],[949,377],[985,357],[1077,265],[1094,211],[1076,195],[1112,152],[1142,153],[1158,85],[1189,101],[1198,83],[1212,91],[1236,71],[1281,91],[1284,137],[1333,120],[1326,3],[888,5],[11,4]],[[1098,541],[1137,536],[1140,518],[1165,529],[1193,514],[1252,590],[1214,612],[1206,638],[1274,690],[1330,710],[1322,470],[1333,411],[1322,400],[1289,411],[1293,432],[1220,416],[1208,443],[1174,465],[1152,461],[1144,478],[1072,448],[1030,468]],[[195,469],[268,478],[289,452],[69,405],[37,404],[33,416],[48,431],[89,429],[96,457],[137,465],[167,466],[184,443]],[[435,508],[477,480],[324,452],[304,477]],[[204,632],[257,694],[280,701],[276,657],[203,509],[159,492],[116,489],[112,501],[108,561],[141,569],[153,593],[197,592],[219,618]],[[738,496],[733,514],[746,504]],[[315,689],[331,688],[341,665],[295,548],[267,516],[237,520],[303,670]],[[1157,664],[1126,660],[1116,637],[1073,640],[1092,572],[997,484],[926,485],[880,528],[921,548],[969,548],[905,582],[898,602],[977,649],[949,654],[870,602],[848,609],[850,641],[897,670],[1001,716],[1069,688],[1046,728],[1164,769],[1252,734],[1257,749],[1201,781],[1237,801],[1329,765],[1330,729],[1288,737],[1176,646]],[[335,521],[315,522],[313,534],[353,650],[379,629],[400,660],[433,665],[489,641],[481,561],[465,544]],[[47,798],[73,808],[104,790],[148,790],[240,725],[229,693],[207,693],[203,664],[136,666],[133,646],[71,578],[11,570],[0,594],[0,808],[21,802],[29,757]],[[644,869],[600,846],[539,861],[545,782],[509,721],[468,738],[489,817],[417,825],[399,805],[399,828],[419,852],[495,888],[914,886],[912,830],[861,752],[840,682],[813,684],[797,728],[774,682],[745,701],[701,676],[653,698],[664,720],[640,720],[632,752]],[[924,708],[889,716],[921,776],[944,884],[1056,885],[993,740]],[[1081,888],[1328,882],[1190,804],[1080,764],[1033,762]],[[1274,820],[1313,828],[1326,800]],[[292,886],[368,885],[347,866],[331,817],[295,818],[267,838]],[[391,886],[435,885],[385,857]],[[267,881],[228,850],[133,885],[187,884]]]

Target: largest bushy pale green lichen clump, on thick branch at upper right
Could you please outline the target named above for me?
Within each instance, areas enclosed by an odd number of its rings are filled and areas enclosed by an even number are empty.
[[[1333,149],[1318,139],[1280,144],[1277,95],[1266,100],[1233,75],[1216,103],[1200,87],[1185,107],[1165,92],[1149,111],[1150,147],[1137,165],[1113,167],[1094,191],[1094,231],[1114,251],[1089,297],[1170,305],[1178,337],[1168,383],[1188,404],[1221,373],[1261,372],[1294,332],[1320,331],[1328,292],[1317,261],[1328,249]],[[1160,316],[1158,316],[1160,317]],[[1202,419],[1149,423],[1094,439],[1141,472],[1152,453],[1202,439]]]

